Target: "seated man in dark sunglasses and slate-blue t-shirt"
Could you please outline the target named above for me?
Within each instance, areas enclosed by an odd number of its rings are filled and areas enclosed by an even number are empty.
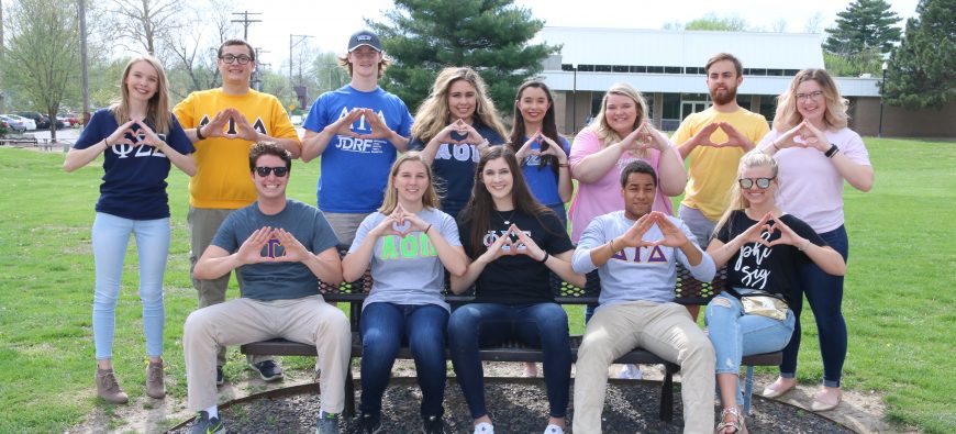
[[[253,146],[249,169],[257,200],[226,218],[196,264],[200,279],[240,268],[243,294],[186,319],[189,409],[199,412],[192,432],[225,430],[215,404],[216,346],[276,337],[315,345],[322,397],[318,432],[338,432],[352,334],[345,314],[319,293],[319,280],[342,280],[338,240],[321,211],[286,198],[291,167],[291,156],[278,145]]]

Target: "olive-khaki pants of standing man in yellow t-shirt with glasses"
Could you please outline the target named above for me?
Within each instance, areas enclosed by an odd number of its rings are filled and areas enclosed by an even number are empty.
[[[192,278],[192,287],[199,294],[199,308],[205,308],[213,304],[219,304],[225,301],[225,291],[229,288],[230,272],[218,279],[200,280],[192,277],[192,270],[196,268],[196,263],[205,252],[212,237],[215,236],[215,231],[235,210],[207,209],[189,207],[189,212],[186,214],[186,222],[189,225],[189,276]],[[240,292],[242,292],[242,280],[240,270],[236,269],[236,281],[240,282]],[[271,360],[273,356],[246,356],[246,361],[249,365],[257,364],[264,360]],[[215,355],[215,365],[225,365],[225,347],[220,347]]]

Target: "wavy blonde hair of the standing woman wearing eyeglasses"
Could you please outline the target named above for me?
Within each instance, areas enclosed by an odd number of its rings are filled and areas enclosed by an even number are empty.
[[[790,81],[790,88],[777,98],[777,114],[774,118],[774,130],[787,131],[800,122],[803,116],[797,110],[797,87],[804,81],[816,81],[823,90],[826,110],[823,112],[823,123],[827,130],[846,127],[849,115],[846,114],[849,104],[846,98],[840,96],[840,89],[833,77],[824,69],[808,68],[797,73]]]

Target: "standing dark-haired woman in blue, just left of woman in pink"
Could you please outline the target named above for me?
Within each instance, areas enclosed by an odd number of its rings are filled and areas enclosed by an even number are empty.
[[[565,202],[571,200],[571,145],[557,132],[554,98],[543,81],[525,81],[514,99],[514,126],[509,141],[534,198],[567,225]]]

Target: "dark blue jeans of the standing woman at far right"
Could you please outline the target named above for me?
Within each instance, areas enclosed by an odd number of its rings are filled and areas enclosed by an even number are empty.
[[[849,242],[846,229],[840,226],[833,231],[820,234],[844,260],[849,258]],[[793,378],[797,375],[797,354],[800,352],[800,312],[803,310],[803,297],[810,302],[813,316],[816,319],[816,332],[820,338],[820,355],[823,358],[823,386],[840,387],[843,375],[843,363],[846,360],[846,322],[843,320],[843,276],[831,276],[820,269],[816,264],[808,261],[800,268],[800,285],[798,294],[791,308],[797,316],[797,327],[793,338],[783,348],[783,363],[780,365],[780,377]]]

